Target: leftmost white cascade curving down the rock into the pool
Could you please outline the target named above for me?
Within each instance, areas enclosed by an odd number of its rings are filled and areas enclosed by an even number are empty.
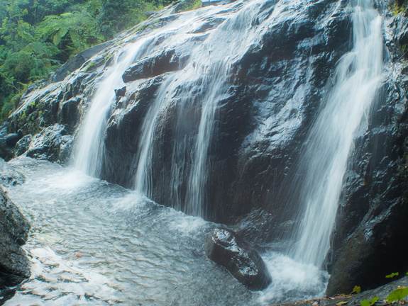
[[[76,169],[89,176],[100,176],[104,160],[104,135],[107,128],[111,107],[116,101],[115,89],[125,86],[122,75],[131,64],[149,55],[155,46],[153,42],[165,33],[171,33],[192,21],[192,16],[181,18],[167,26],[153,30],[150,35],[129,42],[131,37],[123,38],[114,50],[114,64],[111,64],[101,76],[95,94],[89,102],[84,119],[79,127],[79,134],[73,152],[73,164]]]

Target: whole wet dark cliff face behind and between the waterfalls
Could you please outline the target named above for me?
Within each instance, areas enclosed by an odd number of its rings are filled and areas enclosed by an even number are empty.
[[[153,36],[147,48],[154,51],[132,62],[123,73],[123,84],[115,89],[102,140],[101,179],[134,188],[143,120],[165,93],[163,86],[171,84],[162,98],[165,107],[155,117],[149,196],[188,212],[188,176],[194,167],[188,154],[198,137],[203,101],[217,99],[203,185],[204,217],[234,224],[250,212],[254,216],[255,210],[263,210],[260,215],[268,217],[252,218],[252,226],[257,222],[259,226],[255,230],[243,226],[242,234],[258,243],[285,236],[281,232],[290,231],[296,222],[294,205],[298,204],[287,201],[291,191],[286,190],[285,177],[302,159],[300,148],[333,86],[336,63],[352,47],[347,5],[348,1],[336,0],[291,5],[269,0],[257,6],[243,27],[256,29],[258,37],[236,52],[228,77],[222,79],[225,91],[216,97],[207,95],[210,89],[204,76],[192,80],[188,75],[184,85],[180,80],[183,72],[205,66],[194,62],[198,57],[192,50],[211,45],[216,30],[231,30],[228,14],[239,12],[240,2],[199,15],[195,23],[184,25],[182,40],[176,40],[171,31]],[[408,229],[404,227],[408,217],[407,67],[402,54],[408,41],[407,20],[390,13],[385,1],[377,6],[384,21],[385,77],[369,128],[355,140],[349,158],[327,259],[332,275],[329,294],[348,293],[354,285],[373,288],[385,282],[388,273],[408,268]],[[68,162],[81,118],[104,72],[117,60],[114,55],[123,52],[123,45],[190,16],[186,14],[194,15],[172,9],[150,17],[104,50],[95,49],[93,57],[82,57],[82,66],[65,79],[51,78],[29,89],[9,118],[9,132],[21,129],[32,140],[26,150],[14,154]],[[233,25],[240,30],[238,24]],[[209,48],[205,55],[214,53]],[[189,147],[180,149],[180,143]]]

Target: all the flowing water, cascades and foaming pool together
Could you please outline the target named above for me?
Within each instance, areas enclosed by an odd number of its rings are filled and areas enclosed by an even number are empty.
[[[119,46],[115,64],[101,76],[81,125],[75,169],[26,158],[11,162],[27,178],[11,186],[9,195],[33,227],[25,246],[32,276],[6,305],[268,305],[323,295],[328,275],[320,269],[329,250],[347,160],[353,139],[367,128],[380,84],[381,19],[371,0],[352,1],[353,50],[338,63],[330,94],[297,164],[297,174],[302,174],[299,199],[305,207],[293,237],[297,243],[290,256],[273,250],[263,254],[272,275],[269,288],[250,292],[206,258],[202,246],[216,225],[148,199],[156,126],[177,93],[182,98],[177,101],[177,142],[172,147],[172,194],[170,203],[162,204],[204,215],[209,147],[216,132],[216,108],[228,97],[231,64],[263,30],[285,14],[296,16],[297,6],[304,5],[278,1],[254,25],[263,3],[236,2],[183,13],[136,42]],[[101,171],[107,118],[114,89],[124,85],[123,72],[133,62],[153,56],[155,44],[171,40],[183,45],[186,33],[202,26],[200,18],[214,14],[224,23],[189,50],[184,69],[164,79],[143,120],[135,157],[136,191],[92,178]],[[166,39],[159,41],[162,37]],[[183,120],[189,111],[197,124],[186,131]],[[183,184],[185,192],[179,190]]]

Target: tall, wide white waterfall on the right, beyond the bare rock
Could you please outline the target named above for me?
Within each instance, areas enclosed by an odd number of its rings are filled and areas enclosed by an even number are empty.
[[[372,0],[354,0],[353,50],[343,55],[301,154],[299,200],[304,217],[295,234],[295,259],[322,267],[353,140],[368,128],[382,72],[382,21]]]

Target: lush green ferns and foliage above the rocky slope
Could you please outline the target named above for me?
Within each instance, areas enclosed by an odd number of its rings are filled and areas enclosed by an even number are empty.
[[[31,82],[73,55],[136,25],[172,0],[0,1],[0,115]]]

